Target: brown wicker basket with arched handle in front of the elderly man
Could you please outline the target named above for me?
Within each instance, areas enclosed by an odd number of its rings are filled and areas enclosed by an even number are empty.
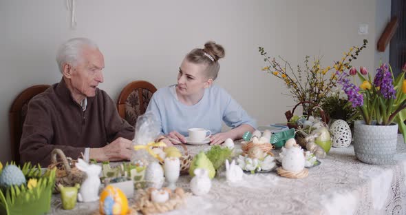
[[[59,156],[61,161],[56,160],[56,155]],[[58,193],[58,184],[64,187],[74,187],[76,183],[82,184],[85,181],[86,174],[76,168],[76,160],[67,158],[60,149],[54,149],[51,152],[51,164],[48,166],[48,170],[52,170],[56,167],[56,181],[54,186],[54,192]]]

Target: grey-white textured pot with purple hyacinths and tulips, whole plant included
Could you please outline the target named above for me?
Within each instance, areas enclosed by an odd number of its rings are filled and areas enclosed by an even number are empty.
[[[352,107],[361,114],[363,121],[354,123],[354,152],[364,163],[385,164],[392,161],[396,152],[398,128],[406,138],[406,65],[394,79],[392,68],[386,63],[371,74],[363,67],[339,72],[339,83]],[[350,77],[353,77],[353,82]],[[359,77],[361,85],[356,83]]]

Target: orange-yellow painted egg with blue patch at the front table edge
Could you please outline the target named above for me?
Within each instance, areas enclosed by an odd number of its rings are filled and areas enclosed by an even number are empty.
[[[107,185],[100,194],[100,214],[127,214],[128,200],[125,194],[117,187]]]

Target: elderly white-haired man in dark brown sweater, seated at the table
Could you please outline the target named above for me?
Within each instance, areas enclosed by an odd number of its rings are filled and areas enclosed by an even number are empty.
[[[56,62],[63,75],[28,104],[23,125],[21,161],[50,164],[55,148],[85,160],[131,158],[134,128],[121,119],[116,106],[98,84],[103,83],[103,54],[89,39],[75,38],[59,48]]]

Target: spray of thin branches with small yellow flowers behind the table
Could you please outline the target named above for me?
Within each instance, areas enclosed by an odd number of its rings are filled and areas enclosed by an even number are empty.
[[[349,69],[351,67],[350,63],[357,58],[359,52],[366,47],[366,44],[367,40],[365,39],[361,47],[354,46],[350,48],[348,52],[343,53],[343,58],[334,62],[332,66],[322,66],[321,57],[315,57],[310,62],[310,57],[306,56],[304,66],[297,65],[296,70],[280,56],[279,59],[282,63],[275,57],[268,57],[267,52],[262,47],[259,47],[259,53],[264,57],[264,61],[269,64],[262,70],[284,81],[290,95],[296,102],[311,101],[321,105],[325,96],[336,86],[338,81],[336,71],[341,73]],[[304,107],[306,108],[306,106]]]

